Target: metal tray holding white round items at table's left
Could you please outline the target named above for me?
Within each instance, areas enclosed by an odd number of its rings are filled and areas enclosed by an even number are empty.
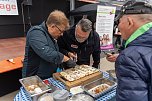
[[[51,88],[48,85],[46,85],[37,75],[19,79],[19,81],[31,97],[39,96],[51,90]],[[27,87],[30,85],[37,85],[42,91],[39,93],[30,93],[27,89]]]

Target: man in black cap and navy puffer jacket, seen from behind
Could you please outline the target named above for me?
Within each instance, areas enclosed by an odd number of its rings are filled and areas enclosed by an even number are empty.
[[[128,1],[116,18],[125,49],[116,60],[116,101],[152,101],[152,4]]]

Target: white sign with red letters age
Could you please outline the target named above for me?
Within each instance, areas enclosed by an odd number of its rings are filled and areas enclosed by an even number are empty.
[[[0,15],[18,15],[17,0],[0,0]]]

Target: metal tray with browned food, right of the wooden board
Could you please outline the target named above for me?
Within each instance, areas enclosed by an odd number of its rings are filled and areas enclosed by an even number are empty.
[[[91,89],[94,89],[97,86],[102,85],[102,84],[109,85],[109,87],[106,90],[104,90],[102,92],[99,92],[97,94],[95,94],[93,92],[90,92]],[[88,83],[88,84],[84,85],[83,89],[84,89],[85,92],[90,94],[92,97],[98,98],[98,97],[104,95],[105,93],[107,93],[108,91],[112,90],[116,85],[117,85],[117,83],[114,82],[114,81],[111,81],[111,80],[106,79],[106,78],[100,78],[98,80],[95,80],[91,83]]]

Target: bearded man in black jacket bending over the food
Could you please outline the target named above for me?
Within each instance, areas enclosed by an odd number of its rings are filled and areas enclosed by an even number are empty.
[[[93,57],[93,67],[98,68],[100,63],[99,35],[92,30],[89,19],[81,19],[78,24],[66,31],[58,39],[60,52],[74,58],[78,65],[90,65],[90,56]]]

